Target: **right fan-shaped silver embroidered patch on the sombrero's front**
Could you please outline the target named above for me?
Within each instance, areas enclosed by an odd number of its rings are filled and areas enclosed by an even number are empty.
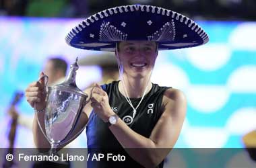
[[[176,36],[176,32],[175,32],[175,25],[173,20],[170,22],[166,22],[166,24],[164,24],[162,26],[162,28],[160,28],[159,30],[157,30],[156,32],[154,32],[154,34],[152,34],[152,36],[148,36],[148,40],[149,41],[173,41],[174,38]]]

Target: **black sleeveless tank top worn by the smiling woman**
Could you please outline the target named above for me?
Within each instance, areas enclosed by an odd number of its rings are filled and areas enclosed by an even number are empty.
[[[133,109],[120,93],[118,83],[119,81],[113,81],[113,83],[102,85],[102,89],[108,94],[110,107],[132,130],[149,138],[154,126],[162,115],[162,97],[168,87],[160,87],[157,84],[153,84],[152,89],[141,101],[141,104],[137,108],[137,114],[133,122],[131,122],[130,118],[133,116]],[[140,99],[141,98],[131,98],[133,107],[137,107]],[[89,122],[86,127],[86,134],[88,139],[88,153],[90,153],[88,157],[89,168],[142,167],[129,157],[117,138],[115,138],[113,133],[108,129],[107,124],[93,111],[90,114]],[[95,157],[99,153],[104,154],[104,159],[96,161]],[[125,161],[112,161],[112,159],[108,159],[107,161],[108,153],[125,155]],[[94,159],[92,160],[93,156]],[[163,167],[163,161],[158,167]]]

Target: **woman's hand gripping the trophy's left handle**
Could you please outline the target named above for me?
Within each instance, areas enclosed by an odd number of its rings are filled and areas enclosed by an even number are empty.
[[[44,73],[40,73],[42,77]],[[32,108],[43,110],[46,105],[46,91],[44,90],[44,77],[39,81],[30,83],[26,89],[26,99]]]

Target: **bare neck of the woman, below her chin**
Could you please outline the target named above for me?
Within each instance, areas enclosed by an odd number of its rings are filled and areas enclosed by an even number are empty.
[[[135,79],[133,77],[127,77],[127,75],[124,74],[123,79],[119,82],[119,91],[122,95],[128,96],[129,98],[140,98],[143,96],[144,91],[146,92],[145,94],[147,94],[151,88],[152,83],[150,81],[150,75],[148,75],[148,77]],[[128,95],[125,93],[125,89]]]

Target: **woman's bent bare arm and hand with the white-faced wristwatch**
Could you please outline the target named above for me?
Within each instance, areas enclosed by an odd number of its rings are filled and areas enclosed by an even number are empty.
[[[93,93],[94,112],[106,122],[108,116],[115,113],[108,108],[106,93],[100,91],[100,88],[95,89]],[[185,118],[187,101],[181,91],[168,89],[164,93],[162,103],[162,116],[152,130],[150,138],[137,134],[120,118],[117,124],[109,127],[127,153],[144,167],[156,167],[164,160],[177,141]]]

